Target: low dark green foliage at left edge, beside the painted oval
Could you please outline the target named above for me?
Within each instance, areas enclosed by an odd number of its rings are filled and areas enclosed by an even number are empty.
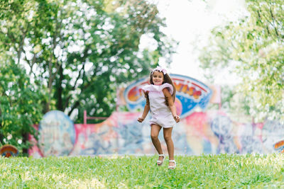
[[[33,124],[38,124],[42,113],[43,95],[35,88],[25,69],[11,59],[0,64],[0,146],[12,144],[20,153],[29,148],[28,134],[36,137]]]

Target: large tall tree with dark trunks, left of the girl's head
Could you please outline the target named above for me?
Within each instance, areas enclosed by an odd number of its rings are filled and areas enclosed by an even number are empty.
[[[20,0],[18,0],[20,1]],[[82,110],[109,116],[116,86],[148,74],[158,58],[173,52],[160,28],[155,5],[132,1],[21,1],[23,11],[2,21],[4,52],[28,67],[48,98],[43,113]],[[157,42],[154,51],[139,50],[143,34]],[[75,113],[76,115],[76,113]]]

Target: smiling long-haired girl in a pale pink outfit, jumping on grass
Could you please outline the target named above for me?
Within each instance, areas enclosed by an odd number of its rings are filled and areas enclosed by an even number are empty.
[[[174,146],[172,139],[172,131],[175,122],[180,121],[180,117],[175,110],[175,86],[172,79],[167,74],[165,69],[157,67],[151,71],[150,84],[143,86],[142,90],[146,97],[146,105],[143,110],[143,115],[138,118],[138,122],[143,122],[146,118],[148,111],[151,110],[152,119],[151,125],[151,139],[155,149],[158,151],[159,159],[157,165],[161,166],[165,159],[158,134],[163,127],[163,135],[165,143],[167,144],[169,154],[168,168],[175,168],[176,162],[174,159]]]

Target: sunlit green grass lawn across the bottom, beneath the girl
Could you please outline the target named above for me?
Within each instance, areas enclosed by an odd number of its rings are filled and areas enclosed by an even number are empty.
[[[0,157],[2,188],[283,188],[284,156],[176,156],[175,170],[158,156]]]

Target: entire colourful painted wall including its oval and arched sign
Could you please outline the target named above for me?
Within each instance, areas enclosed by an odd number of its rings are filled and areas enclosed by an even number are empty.
[[[177,89],[175,106],[181,121],[173,129],[175,154],[272,153],[284,151],[284,125],[279,122],[236,122],[221,110],[206,110],[209,101],[221,101],[220,89],[209,88],[196,79],[170,75]],[[60,111],[47,113],[35,126],[38,141],[30,137],[29,154],[41,156],[78,156],[101,154],[155,154],[148,124],[151,113],[139,123],[146,101],[141,86],[148,78],[133,82],[118,94],[119,105],[131,112],[114,112],[99,124],[73,124]],[[219,91],[215,93],[214,91]],[[199,111],[197,111],[199,108]],[[200,112],[202,110],[202,112]],[[159,135],[163,150],[163,131]]]

